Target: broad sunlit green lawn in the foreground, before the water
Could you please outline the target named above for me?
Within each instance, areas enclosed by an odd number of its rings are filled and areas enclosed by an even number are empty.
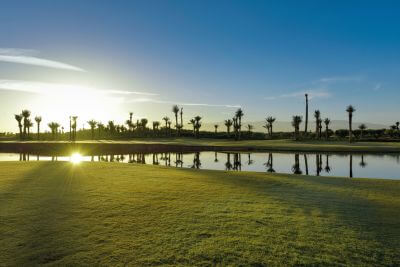
[[[0,163],[0,265],[398,265],[400,182]]]

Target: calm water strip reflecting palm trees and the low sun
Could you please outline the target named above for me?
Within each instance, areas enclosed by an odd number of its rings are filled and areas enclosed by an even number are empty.
[[[295,173],[316,176],[400,179],[400,154],[295,153],[136,153],[125,155],[39,156],[0,153],[0,161],[102,161],[141,163],[178,168]]]

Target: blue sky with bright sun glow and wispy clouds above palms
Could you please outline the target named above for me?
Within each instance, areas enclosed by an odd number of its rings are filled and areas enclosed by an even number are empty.
[[[123,123],[205,122],[310,111],[400,120],[399,1],[3,0],[0,132],[29,109],[43,123],[78,115]],[[86,126],[87,127],[87,126]],[[187,125],[188,127],[188,125]]]

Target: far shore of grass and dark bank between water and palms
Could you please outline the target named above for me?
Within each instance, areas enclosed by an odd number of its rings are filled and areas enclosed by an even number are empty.
[[[0,141],[0,152],[60,153],[79,150],[96,153],[152,153],[193,151],[274,151],[321,153],[400,153],[398,142],[293,141],[281,140],[221,140],[193,138],[160,138],[133,140],[69,141]]]

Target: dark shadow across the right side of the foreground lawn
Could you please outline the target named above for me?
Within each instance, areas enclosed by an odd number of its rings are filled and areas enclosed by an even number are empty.
[[[397,182],[280,174],[255,177],[246,173],[229,173],[229,176],[213,173],[207,176],[207,171],[199,174],[217,183],[235,185],[276,199],[291,209],[301,209],[307,216],[314,216],[317,210],[322,217],[334,217],[336,220],[330,222],[332,227],[352,229],[359,240],[375,244],[377,249],[363,251],[364,255],[370,253],[375,262],[400,263],[400,186]],[[383,183],[387,186],[382,186]],[[352,244],[347,246],[351,248]]]

